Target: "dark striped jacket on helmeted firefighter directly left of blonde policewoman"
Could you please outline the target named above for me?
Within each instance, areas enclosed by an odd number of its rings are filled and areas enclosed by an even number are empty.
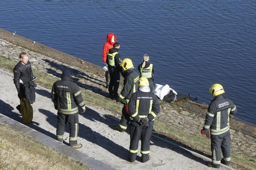
[[[123,89],[116,100],[127,104],[126,102],[129,102],[131,94],[138,91],[138,81],[140,77],[134,69],[126,71],[123,76],[125,78],[123,80]]]

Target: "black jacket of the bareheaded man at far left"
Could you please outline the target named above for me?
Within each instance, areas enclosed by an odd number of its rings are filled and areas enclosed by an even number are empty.
[[[14,67],[14,84],[19,93],[20,89],[20,80],[23,81],[23,84],[26,85],[31,80],[31,75],[33,76],[33,72],[31,69],[31,62],[28,60],[27,64],[22,64],[22,62],[18,62],[18,64]]]

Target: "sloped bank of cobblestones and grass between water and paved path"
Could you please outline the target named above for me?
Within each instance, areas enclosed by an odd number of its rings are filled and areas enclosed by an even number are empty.
[[[39,84],[51,88],[56,77],[60,77],[61,71],[69,68],[73,80],[83,88],[87,105],[96,106],[98,109],[120,117],[122,106],[107,98],[102,68],[89,62],[82,64],[68,54],[0,29],[0,55],[11,59],[2,57],[1,67],[9,68],[11,71],[18,61],[18,54],[21,50],[30,54],[34,69],[38,71],[37,82]],[[44,74],[50,76],[43,76]],[[186,108],[192,109],[192,112]],[[175,105],[161,102],[161,112],[156,121],[155,131],[195,150],[210,154],[210,140],[200,134],[205,113],[206,106],[194,102],[181,101],[175,102]],[[230,130],[232,160],[240,165],[255,168],[256,128],[235,120],[231,121],[231,126],[233,128]],[[248,131],[251,133],[247,133]]]

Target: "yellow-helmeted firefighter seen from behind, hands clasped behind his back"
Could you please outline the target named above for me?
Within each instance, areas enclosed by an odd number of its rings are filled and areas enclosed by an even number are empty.
[[[131,117],[129,161],[135,161],[141,139],[141,162],[147,162],[154,119],[160,112],[160,105],[156,95],[150,91],[146,77],[140,78],[138,86],[139,90],[131,95],[128,104]]]

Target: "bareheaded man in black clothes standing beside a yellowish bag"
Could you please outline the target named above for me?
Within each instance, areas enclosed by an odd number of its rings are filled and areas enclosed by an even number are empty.
[[[30,104],[35,102],[35,77],[33,76],[28,54],[21,52],[20,61],[14,67],[14,84],[18,91],[19,99],[26,98]],[[20,105],[16,107],[20,111]]]

